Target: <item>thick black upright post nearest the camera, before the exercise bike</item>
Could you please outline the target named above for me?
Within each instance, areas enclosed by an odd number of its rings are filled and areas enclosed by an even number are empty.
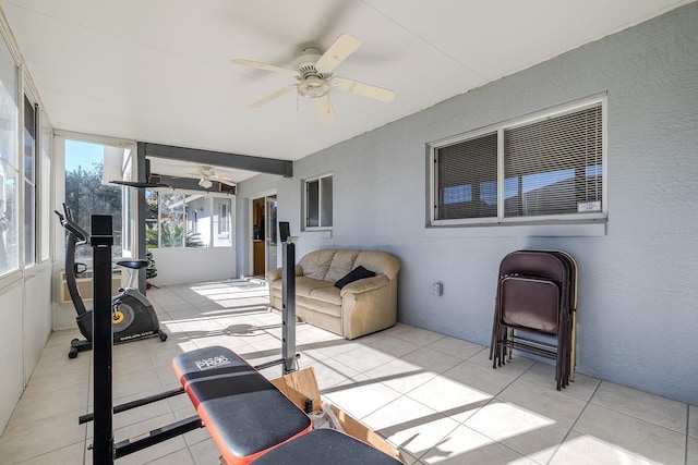
[[[95,424],[93,463],[113,464],[113,406],[111,391],[111,216],[93,215],[93,360]]]

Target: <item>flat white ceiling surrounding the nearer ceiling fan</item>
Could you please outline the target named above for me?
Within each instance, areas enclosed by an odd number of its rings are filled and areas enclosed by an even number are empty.
[[[297,160],[690,1],[0,0],[0,5],[55,127]],[[393,102],[333,89],[338,119],[333,125],[324,125],[313,103],[294,93],[248,108],[293,79],[233,65],[231,58],[291,66],[304,47],[324,51],[341,33],[357,36],[362,46],[335,75],[390,88]],[[176,171],[177,164],[168,169]],[[236,181],[254,174],[219,171]]]

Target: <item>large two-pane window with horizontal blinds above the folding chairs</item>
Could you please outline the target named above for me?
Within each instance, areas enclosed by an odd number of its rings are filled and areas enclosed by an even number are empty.
[[[432,224],[603,217],[603,108],[597,99],[430,144]]]

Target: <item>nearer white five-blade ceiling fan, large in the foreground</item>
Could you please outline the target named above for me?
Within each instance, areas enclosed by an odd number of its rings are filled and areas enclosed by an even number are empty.
[[[230,62],[270,71],[273,73],[289,74],[298,81],[297,84],[281,87],[275,93],[253,102],[250,105],[250,108],[260,108],[284,94],[296,90],[299,96],[313,99],[323,123],[332,124],[337,121],[337,117],[329,101],[330,86],[384,102],[392,101],[393,98],[395,98],[393,90],[333,75],[335,68],[360,46],[361,41],[357,37],[350,34],[341,34],[324,53],[321,53],[320,50],[314,47],[303,49],[301,56],[293,61],[293,68],[277,66],[241,58],[230,60]]]

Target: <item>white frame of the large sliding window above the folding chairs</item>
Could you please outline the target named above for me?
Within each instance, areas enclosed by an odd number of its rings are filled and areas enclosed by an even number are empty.
[[[564,117],[565,114],[575,113],[588,108],[601,106],[601,211],[582,212],[582,213],[557,213],[557,215],[540,215],[540,216],[505,216],[505,164],[504,164],[504,132],[526,125],[530,125],[540,121]],[[496,133],[497,135],[497,215],[496,217],[482,218],[459,218],[459,219],[437,219],[436,211],[438,205],[438,178],[437,178],[437,159],[438,149],[455,144],[464,143],[479,137]],[[502,123],[496,123],[481,127],[467,133],[449,136],[426,144],[426,155],[430,169],[429,175],[429,196],[428,196],[428,227],[482,227],[482,225],[518,225],[518,224],[535,224],[535,223],[580,223],[580,222],[598,222],[607,219],[609,208],[609,189],[607,189],[607,97],[605,94],[588,97],[574,102],[564,103],[545,110],[537,111],[524,117],[510,119]]]

